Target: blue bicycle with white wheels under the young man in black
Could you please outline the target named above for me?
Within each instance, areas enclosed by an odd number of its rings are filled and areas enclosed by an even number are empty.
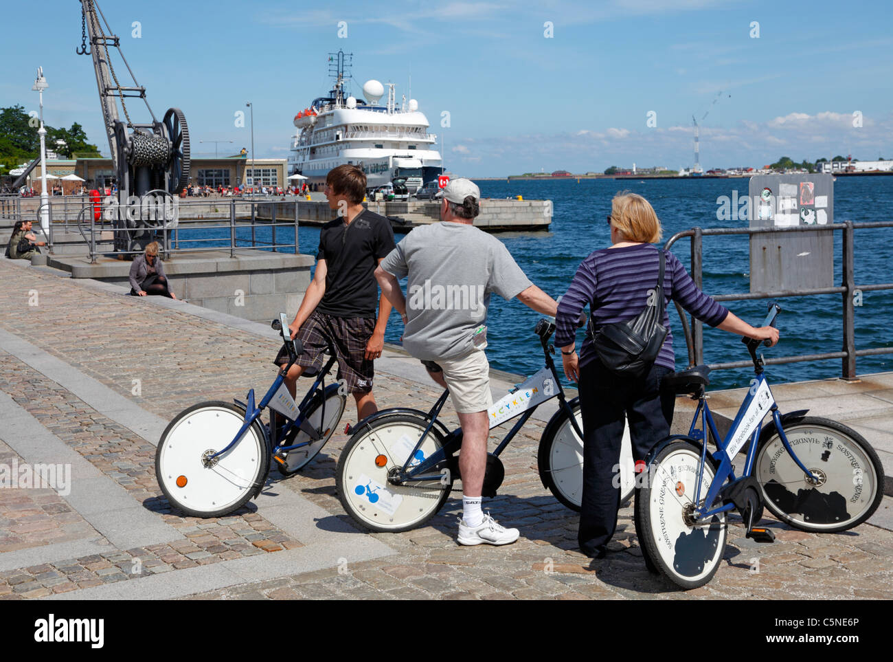
[[[155,454],[155,476],[164,496],[187,515],[219,517],[260,494],[271,464],[285,476],[300,471],[330,440],[344,414],[346,392],[339,383],[325,383],[335,364],[335,349],[300,404],[284,379],[304,349],[291,339],[285,314],[271,324],[288,350],[288,365],[255,406],[255,390],[246,402],[209,401],[180,412],[165,428]],[[269,407],[270,423],[261,415]]]

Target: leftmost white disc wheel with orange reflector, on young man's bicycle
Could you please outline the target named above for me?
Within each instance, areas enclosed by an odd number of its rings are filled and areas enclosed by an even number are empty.
[[[244,423],[245,410],[204,402],[181,412],[167,426],[155,454],[155,475],[164,496],[187,515],[219,517],[237,510],[266,479],[270,455],[255,421],[226,454]]]

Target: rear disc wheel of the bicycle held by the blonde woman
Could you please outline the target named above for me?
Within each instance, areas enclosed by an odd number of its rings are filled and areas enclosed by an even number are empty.
[[[636,517],[642,552],[671,582],[685,589],[703,586],[722,563],[726,545],[725,513],[694,521],[700,448],[689,442],[665,446],[648,467],[648,485],[639,490]],[[700,499],[714,479],[709,457]]]

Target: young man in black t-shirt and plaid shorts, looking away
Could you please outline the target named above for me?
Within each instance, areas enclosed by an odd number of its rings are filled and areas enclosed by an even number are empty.
[[[339,165],[326,177],[326,199],[338,218],[320,230],[313,281],[295,321],[288,325],[291,337],[301,340],[304,354],[285,380],[294,398],[297,378],[308,368],[321,368],[322,352],[331,340],[338,356],[338,379],[345,380],[354,395],[358,421],[378,411],[372,396],[372,361],[381,356],[391,305],[378,296],[372,273],[395,246],[388,219],[363,208],[365,192],[366,175],[355,165]],[[274,363],[288,363],[284,347]]]

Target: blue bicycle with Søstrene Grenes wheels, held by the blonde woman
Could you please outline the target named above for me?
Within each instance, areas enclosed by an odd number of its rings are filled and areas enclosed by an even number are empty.
[[[779,312],[771,306],[763,325],[774,326]],[[763,356],[756,354],[760,340],[742,341],[755,379],[722,440],[705,396],[710,368],[697,365],[663,379],[663,388],[697,399],[697,409],[687,435],[651,449],[647,480],[636,494],[636,531],[649,570],[685,589],[716,573],[733,510],[748,539],[771,543],[772,529],[758,525],[764,507],[802,531],[830,533],[862,524],[883,496],[883,468],[868,441],[846,425],[807,416],[807,409],[781,414]],[[707,434],[714,453],[707,452]],[[736,475],[732,463],[746,447]]]

